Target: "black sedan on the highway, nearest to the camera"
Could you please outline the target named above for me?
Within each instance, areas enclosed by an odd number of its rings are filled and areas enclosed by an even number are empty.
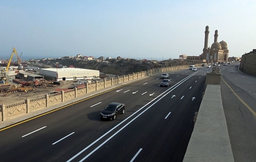
[[[124,110],[125,104],[112,102],[108,104],[108,106],[105,107],[104,110],[101,111],[101,114],[99,116],[101,117],[101,119],[115,120],[117,115],[124,114]]]

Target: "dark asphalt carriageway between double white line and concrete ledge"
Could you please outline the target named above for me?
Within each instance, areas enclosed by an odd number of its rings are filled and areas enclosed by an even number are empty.
[[[194,87],[197,90],[196,93],[193,90],[189,93],[186,90],[177,90],[166,95],[159,102],[148,107],[147,111],[118,135],[107,139],[109,140],[107,144],[103,143],[101,148],[95,148],[91,152],[83,152],[82,155],[85,156],[83,160],[124,161],[125,159],[129,161],[136,154],[134,151],[139,151],[143,146],[144,155],[140,155],[141,158],[138,157],[137,161],[166,161],[167,159],[182,161],[193,130],[194,112],[198,110],[201,103],[201,93],[204,88],[202,84],[204,79],[198,81],[198,78],[201,78],[201,75],[191,80],[189,84],[186,82],[187,90]],[[196,81],[198,84],[194,85]],[[201,90],[201,93],[198,90]],[[187,97],[178,95],[180,93]],[[179,97],[172,97],[174,94]],[[192,99],[193,97],[197,98],[197,101]],[[171,98],[176,101],[171,102]],[[181,101],[182,99],[184,101]],[[82,155],[78,156],[82,158]]]

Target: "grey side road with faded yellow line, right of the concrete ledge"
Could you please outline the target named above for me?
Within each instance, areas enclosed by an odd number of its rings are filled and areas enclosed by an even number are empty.
[[[231,64],[221,70],[221,98],[235,162],[256,161],[256,77]],[[254,113],[254,114],[253,114]]]

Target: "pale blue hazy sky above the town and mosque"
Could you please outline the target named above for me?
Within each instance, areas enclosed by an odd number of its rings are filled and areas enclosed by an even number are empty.
[[[1,60],[13,47],[23,60],[198,56],[206,26],[229,57],[256,48],[256,0],[1,0],[0,15]]]

